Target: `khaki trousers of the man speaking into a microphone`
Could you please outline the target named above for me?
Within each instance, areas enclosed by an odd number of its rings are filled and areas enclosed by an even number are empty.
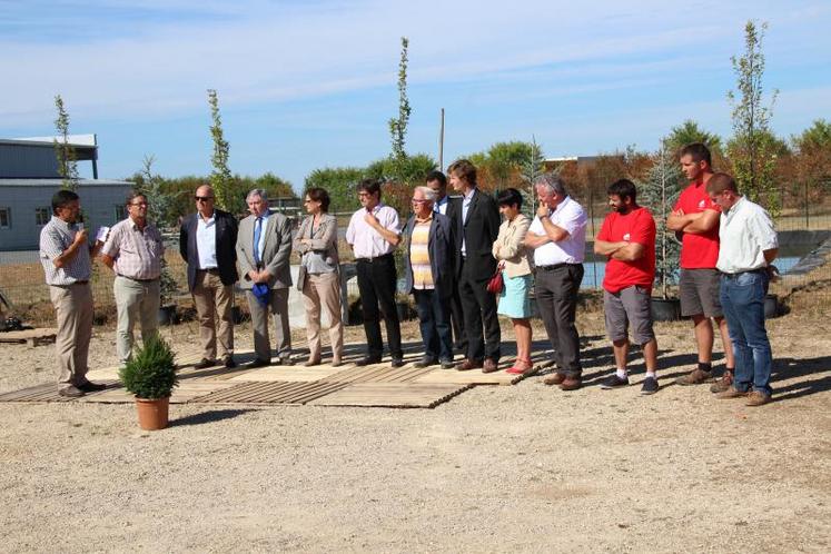
[[[58,319],[55,350],[58,355],[58,383],[87,383],[89,340],[92,338],[92,290],[88,283],[49,287]]]

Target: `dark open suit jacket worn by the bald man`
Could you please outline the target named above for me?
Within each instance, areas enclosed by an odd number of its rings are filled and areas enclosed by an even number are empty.
[[[199,225],[199,214],[191,214],[185,218],[179,229],[179,254],[188,264],[188,289],[192,293],[196,286],[196,271],[199,269],[199,250],[196,235]],[[214,210],[214,228],[216,229],[217,269],[222,285],[234,285],[237,275],[237,219],[219,209]]]

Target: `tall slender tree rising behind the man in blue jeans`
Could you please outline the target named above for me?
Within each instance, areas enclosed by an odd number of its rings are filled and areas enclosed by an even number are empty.
[[[778,145],[769,126],[778,91],[773,91],[770,105],[762,105],[762,38],[766,29],[766,23],[756,28],[753,21],[748,21],[744,26],[744,55],[731,57],[738,90],[728,92],[733,120],[728,155],[742,194],[764,205],[776,217],[781,209],[781,195],[774,177]]]

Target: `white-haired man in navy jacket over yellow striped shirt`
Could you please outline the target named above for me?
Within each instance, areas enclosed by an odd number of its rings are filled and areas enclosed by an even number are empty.
[[[452,369],[453,225],[447,216],[433,210],[436,196],[429,187],[413,191],[413,216],[404,228],[405,287],[415,296],[424,340],[424,357],[415,366],[441,363]]]

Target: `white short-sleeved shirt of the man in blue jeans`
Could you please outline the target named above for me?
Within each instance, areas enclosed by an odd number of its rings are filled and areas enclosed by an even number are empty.
[[[770,214],[744,197],[722,211],[719,226],[716,269],[725,274],[752,271],[768,266],[764,250],[779,248],[779,238]]]

